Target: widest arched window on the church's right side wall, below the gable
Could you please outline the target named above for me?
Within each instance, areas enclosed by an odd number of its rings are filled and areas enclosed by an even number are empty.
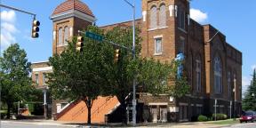
[[[214,59],[214,91],[215,93],[222,92],[222,69],[220,57]]]

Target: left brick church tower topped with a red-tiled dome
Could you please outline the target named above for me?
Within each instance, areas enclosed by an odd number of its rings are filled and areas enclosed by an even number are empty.
[[[52,54],[60,53],[68,45],[68,40],[77,35],[77,31],[92,25],[95,16],[80,0],[66,0],[52,12],[53,40]]]

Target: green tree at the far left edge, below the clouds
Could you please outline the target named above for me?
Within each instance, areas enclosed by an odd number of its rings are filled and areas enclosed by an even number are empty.
[[[12,44],[3,55],[0,58],[1,98],[7,105],[7,118],[10,118],[13,102],[33,99],[35,88],[29,77],[31,63],[19,44]]]

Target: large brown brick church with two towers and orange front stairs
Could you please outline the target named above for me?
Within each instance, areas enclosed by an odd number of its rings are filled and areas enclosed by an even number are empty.
[[[64,1],[64,0],[63,0]],[[226,41],[217,28],[201,25],[189,17],[188,0],[142,0],[142,18],[136,20],[143,41],[141,57],[171,61],[178,53],[185,55],[184,68],[188,72],[191,92],[180,99],[161,94],[154,97],[138,93],[138,122],[185,122],[198,115],[215,112],[227,116],[242,111],[242,52]],[[92,25],[96,18],[81,0],[66,0],[52,12],[52,54],[63,51],[77,31]],[[132,26],[132,21],[100,27]],[[33,63],[32,78],[43,84],[44,73],[52,67],[46,62]],[[43,81],[43,82],[42,82]],[[56,120],[85,122],[86,106],[81,101],[50,100],[48,113]],[[119,107],[116,98],[99,97],[93,104],[92,123],[107,122]],[[130,109],[127,108],[128,117]],[[97,115],[97,116],[96,116]],[[109,119],[108,119],[109,121]]]

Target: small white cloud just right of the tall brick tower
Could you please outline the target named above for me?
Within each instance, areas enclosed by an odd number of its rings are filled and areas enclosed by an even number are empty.
[[[199,23],[204,23],[207,20],[208,15],[206,12],[202,12],[200,10],[192,8],[190,9],[190,17],[191,19],[196,20]]]

